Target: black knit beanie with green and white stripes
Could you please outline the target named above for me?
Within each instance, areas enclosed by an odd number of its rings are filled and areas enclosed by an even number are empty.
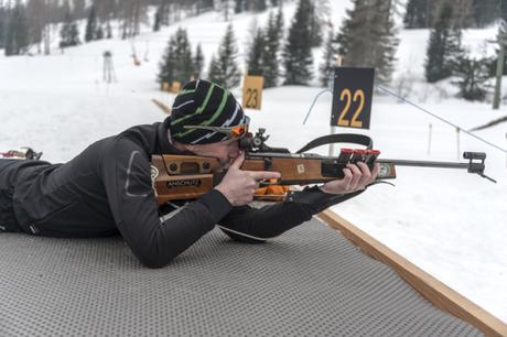
[[[171,138],[184,144],[208,144],[227,139],[212,130],[187,129],[185,126],[235,127],[245,121],[241,106],[233,94],[218,85],[198,79],[187,83],[174,99],[171,116],[164,124]]]

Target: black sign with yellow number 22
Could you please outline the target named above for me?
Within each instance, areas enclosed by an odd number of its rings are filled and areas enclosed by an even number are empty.
[[[332,127],[369,129],[374,77],[374,68],[335,68]]]

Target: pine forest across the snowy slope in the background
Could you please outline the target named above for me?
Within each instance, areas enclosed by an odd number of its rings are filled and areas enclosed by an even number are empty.
[[[375,67],[376,80],[388,85],[401,29],[396,22],[402,15],[404,29],[430,31],[425,79],[435,83],[451,78],[460,87],[460,96],[484,99],[498,57],[471,57],[461,43],[462,30],[505,20],[507,0],[352,1],[338,26],[330,18],[330,0],[0,0],[0,48],[7,56],[50,54],[54,45],[63,52],[95,40],[129,39],[138,35],[143,24],[159,31],[206,11],[219,12],[228,21],[245,11],[274,9],[265,26],[251,30],[245,55],[246,70],[263,76],[266,87],[310,85],[314,78],[330,86],[338,55],[344,66]],[[283,18],[283,2],[296,3],[293,18]],[[229,24],[219,48],[207,62],[208,69],[204,69],[201,45],[194,48],[186,31],[179,30],[169,41],[159,80],[207,76],[236,86],[240,77],[236,43],[234,25]],[[317,69],[313,67],[315,47],[323,50]]]

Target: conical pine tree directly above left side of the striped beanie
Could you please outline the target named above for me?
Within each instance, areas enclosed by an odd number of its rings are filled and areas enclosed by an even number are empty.
[[[159,83],[187,83],[194,76],[194,59],[186,30],[180,28],[171,36],[160,63]]]

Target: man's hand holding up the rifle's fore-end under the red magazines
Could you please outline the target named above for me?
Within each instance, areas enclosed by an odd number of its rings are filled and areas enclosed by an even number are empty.
[[[378,163],[374,165],[373,171],[369,171],[368,165],[363,162],[347,164],[347,167],[343,168],[345,176],[342,180],[325,183],[321,191],[331,194],[347,194],[365,189],[367,185],[377,178],[379,170],[380,165]]]

